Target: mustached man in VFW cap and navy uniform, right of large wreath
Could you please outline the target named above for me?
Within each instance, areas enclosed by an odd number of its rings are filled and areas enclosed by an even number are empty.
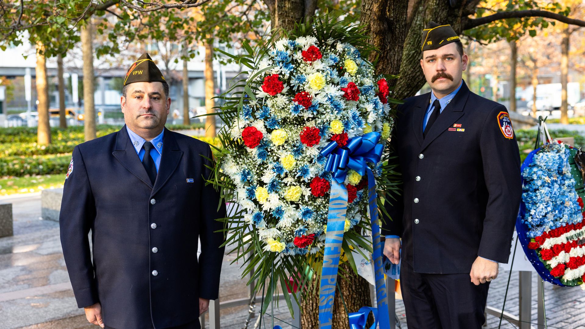
[[[504,105],[462,80],[467,54],[451,26],[430,22],[421,52],[432,91],[398,107],[391,145],[402,193],[385,205],[384,255],[401,261],[408,328],[479,329],[489,283],[510,256],[518,145]]]

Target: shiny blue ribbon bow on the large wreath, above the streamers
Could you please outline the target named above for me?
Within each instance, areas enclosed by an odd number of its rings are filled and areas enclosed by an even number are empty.
[[[365,176],[366,163],[378,163],[382,157],[383,145],[378,144],[378,140],[380,140],[379,132],[352,137],[343,147],[339,147],[338,143],[332,140],[319,152],[322,156],[327,157],[325,170],[332,172],[333,179],[339,184],[345,181],[349,169]]]

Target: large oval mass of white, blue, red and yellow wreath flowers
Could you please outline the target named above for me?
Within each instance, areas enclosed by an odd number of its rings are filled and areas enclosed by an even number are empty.
[[[331,186],[319,152],[332,140],[343,144],[369,132],[385,144],[392,125],[388,85],[356,47],[312,36],[278,40],[249,77],[259,88],[228,122],[229,138],[243,143],[228,148],[222,170],[267,251],[316,253]],[[380,175],[381,164],[369,166]],[[347,177],[349,229],[365,217],[368,198],[366,177],[353,170]]]

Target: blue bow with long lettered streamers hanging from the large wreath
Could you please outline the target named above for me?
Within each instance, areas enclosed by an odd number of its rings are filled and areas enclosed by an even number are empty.
[[[343,185],[347,171],[355,170],[362,176],[368,177],[368,196],[371,218],[371,232],[373,239],[374,276],[376,277],[376,299],[378,309],[362,307],[359,312],[351,313],[350,325],[352,329],[363,329],[365,320],[360,326],[361,319],[372,311],[374,326],[380,320],[380,329],[390,328],[390,316],[388,315],[388,301],[386,282],[382,268],[382,251],[380,242],[380,227],[378,226],[378,208],[376,203],[376,184],[374,174],[367,166],[367,162],[378,163],[382,155],[383,145],[378,144],[380,133],[370,132],[363,136],[356,136],[347,141],[347,145],[339,147],[332,141],[324,149],[321,155],[327,157],[325,170],[332,172],[331,196],[329,197],[329,215],[327,218],[327,232],[325,235],[325,249],[323,268],[321,272],[319,294],[319,328],[331,329],[333,300],[335,300],[335,287],[337,285],[337,273],[341,244],[343,241],[343,228],[345,227],[345,215],[347,211],[347,189]],[[370,311],[367,311],[369,309]],[[364,312],[367,312],[363,315]],[[356,322],[357,321],[357,322]]]

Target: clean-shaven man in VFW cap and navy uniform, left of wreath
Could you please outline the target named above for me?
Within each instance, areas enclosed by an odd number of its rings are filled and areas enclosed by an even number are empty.
[[[61,245],[77,306],[102,328],[200,328],[218,298],[225,204],[205,185],[209,145],[164,128],[170,105],[143,54],[124,80],[126,125],[73,150]]]

